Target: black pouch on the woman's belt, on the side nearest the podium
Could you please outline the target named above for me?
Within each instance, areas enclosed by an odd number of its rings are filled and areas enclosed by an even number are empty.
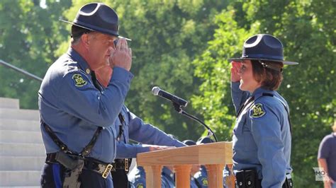
[[[236,188],[261,188],[262,181],[258,179],[257,170],[241,170],[236,172]]]

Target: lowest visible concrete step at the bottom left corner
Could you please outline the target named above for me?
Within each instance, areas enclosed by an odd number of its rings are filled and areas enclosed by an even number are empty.
[[[38,186],[40,185],[41,171],[0,171],[0,187],[7,186]]]

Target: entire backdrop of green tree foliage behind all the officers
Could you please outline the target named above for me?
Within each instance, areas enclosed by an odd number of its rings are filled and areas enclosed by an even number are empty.
[[[88,0],[0,1],[0,59],[43,77],[69,47],[72,20]],[[150,93],[153,86],[189,100],[186,111],[205,119],[220,141],[230,140],[235,112],[230,99],[229,57],[239,57],[251,35],[269,33],[284,43],[279,92],[288,100],[293,124],[291,163],[296,187],[313,187],[313,168],[323,136],[336,117],[336,1],[111,1],[120,33],[132,39],[135,78],[126,103],[146,122],[197,139],[203,128]],[[40,83],[0,66],[0,96],[37,108]],[[191,100],[190,100],[191,99]]]

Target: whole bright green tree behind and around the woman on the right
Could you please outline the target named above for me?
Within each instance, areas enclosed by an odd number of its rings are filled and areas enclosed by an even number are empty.
[[[218,16],[218,30],[208,42],[208,50],[194,61],[196,76],[203,78],[203,83],[202,95],[196,95],[193,102],[199,106],[210,103],[206,110],[213,113],[206,115],[206,120],[224,124],[216,131],[229,135],[234,111],[230,105],[230,64],[225,59],[233,54],[240,56],[247,36],[269,33],[279,37],[284,43],[285,59],[301,63],[285,67],[279,90],[291,107],[294,183],[296,187],[318,187],[313,172],[313,167],[318,166],[318,145],[330,133],[336,117],[332,79],[336,67],[336,2],[234,1],[231,5],[228,12]]]

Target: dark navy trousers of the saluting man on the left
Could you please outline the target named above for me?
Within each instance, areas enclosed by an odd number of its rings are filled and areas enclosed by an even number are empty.
[[[41,176],[41,187],[43,188],[62,188],[65,168],[58,163],[45,163]],[[111,180],[111,179],[110,179]],[[83,168],[79,175],[82,182],[80,188],[107,187],[108,179],[104,179],[99,173]]]

